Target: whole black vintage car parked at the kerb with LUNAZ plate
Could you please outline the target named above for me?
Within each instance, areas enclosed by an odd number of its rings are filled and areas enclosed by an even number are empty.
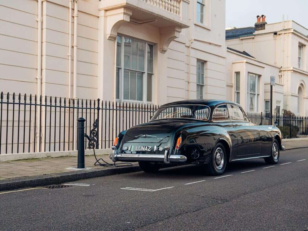
[[[121,132],[111,159],[138,161],[145,172],[196,164],[221,175],[231,161],[264,158],[277,164],[281,139],[276,126],[251,123],[237,103],[185,100],[165,104],[148,123]]]

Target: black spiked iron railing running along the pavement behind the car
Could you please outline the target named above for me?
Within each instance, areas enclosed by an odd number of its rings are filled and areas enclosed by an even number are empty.
[[[86,119],[85,131],[95,148],[111,148],[115,136],[148,122],[157,105],[67,99],[47,96],[0,97],[0,154],[70,151],[77,147],[77,119]],[[283,138],[308,137],[308,117],[247,113],[257,125],[278,122]],[[86,148],[92,142],[84,140]]]

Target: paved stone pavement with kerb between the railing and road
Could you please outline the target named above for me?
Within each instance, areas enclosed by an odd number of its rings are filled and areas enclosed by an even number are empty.
[[[308,147],[308,140],[287,140],[282,144],[286,150]],[[108,155],[98,156],[112,163]],[[0,191],[23,187],[36,187],[49,184],[60,184],[71,180],[80,180],[97,176],[107,176],[127,172],[140,171],[137,163],[133,166],[105,167],[94,166],[95,157],[85,156],[87,169],[73,169],[77,165],[77,157],[55,157],[30,160],[14,160],[0,162]]]

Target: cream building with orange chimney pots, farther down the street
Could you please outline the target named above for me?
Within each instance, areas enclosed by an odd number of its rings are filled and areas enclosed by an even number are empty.
[[[286,109],[295,115],[308,115],[308,92],[306,89],[308,84],[306,48],[308,29],[294,21],[267,24],[265,17],[262,21],[260,18],[260,22],[257,22],[255,27],[226,30],[227,47],[245,51],[255,58],[234,57],[236,52],[228,50],[227,95],[236,100],[234,98],[236,95],[234,76],[235,69],[240,65],[236,61],[242,60],[241,70],[246,69],[243,73],[241,72],[242,88],[239,92],[241,94],[240,102],[245,105],[247,111],[248,109],[249,111],[269,111],[270,76],[273,75],[276,77],[273,111],[275,108],[280,108],[280,113],[281,109]],[[261,60],[257,62],[259,67],[256,65],[252,67],[250,64],[252,60],[253,63],[256,63],[256,60]],[[231,69],[230,63],[233,63],[233,69]],[[244,65],[244,63],[246,64]],[[257,75],[256,83],[257,87],[260,87],[259,98],[254,98],[254,93],[250,94],[251,92],[246,87],[250,84],[247,81],[255,79],[255,77],[248,78],[248,75],[252,76],[250,73]],[[244,81],[242,82],[242,80]]]

